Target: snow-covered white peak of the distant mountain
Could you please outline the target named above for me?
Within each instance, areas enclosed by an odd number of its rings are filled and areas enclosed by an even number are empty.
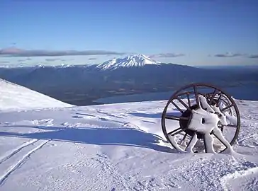
[[[102,64],[97,65],[100,69],[118,69],[120,67],[138,67],[145,65],[160,65],[161,62],[157,62],[154,59],[150,59],[144,54],[138,54],[134,56],[128,56],[124,58],[111,59]]]

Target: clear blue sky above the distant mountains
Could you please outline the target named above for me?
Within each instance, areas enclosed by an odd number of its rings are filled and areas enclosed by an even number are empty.
[[[98,64],[126,54],[187,65],[258,64],[255,0],[1,0],[0,17],[0,64]],[[17,51],[26,54],[3,55]],[[55,58],[33,57],[38,52]]]

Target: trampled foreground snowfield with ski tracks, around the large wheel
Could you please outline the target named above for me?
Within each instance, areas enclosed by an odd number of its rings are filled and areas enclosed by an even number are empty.
[[[4,105],[0,190],[258,190],[258,101],[236,102],[242,127],[234,154],[178,154],[162,134],[167,100]]]

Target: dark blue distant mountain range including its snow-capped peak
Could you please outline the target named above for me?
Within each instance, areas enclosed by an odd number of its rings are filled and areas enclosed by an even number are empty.
[[[194,82],[257,86],[258,71],[164,64],[137,54],[102,64],[0,68],[0,78],[65,103],[92,105],[99,98],[174,91]]]

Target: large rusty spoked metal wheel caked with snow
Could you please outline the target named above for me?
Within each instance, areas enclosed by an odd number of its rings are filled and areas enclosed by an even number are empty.
[[[169,99],[162,113],[162,131],[179,152],[220,153],[232,149],[238,137],[240,112],[220,88],[193,83]]]

